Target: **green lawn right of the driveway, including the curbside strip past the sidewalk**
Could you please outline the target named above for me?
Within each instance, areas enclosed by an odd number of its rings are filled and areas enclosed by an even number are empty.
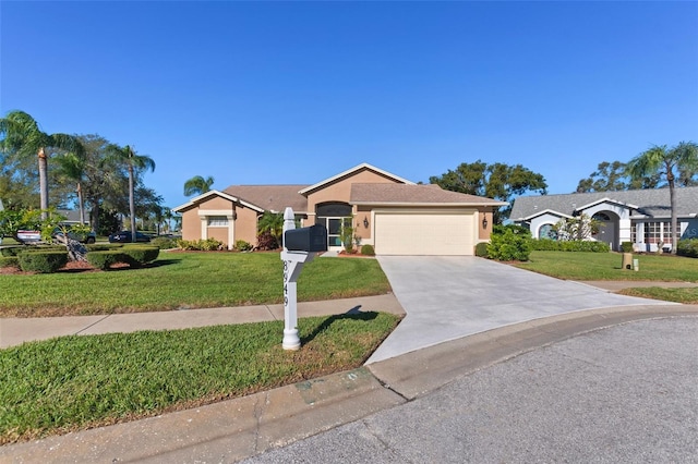
[[[618,253],[532,252],[530,261],[516,266],[566,280],[649,280],[658,282],[698,282],[698,259],[672,255],[635,255],[640,269],[621,266]],[[698,304],[698,289],[635,288],[622,292],[684,304]]]

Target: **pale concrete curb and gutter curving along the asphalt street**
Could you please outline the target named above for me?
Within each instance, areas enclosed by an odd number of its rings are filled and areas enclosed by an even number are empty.
[[[696,316],[698,305],[624,306],[556,315],[221,403],[0,447],[0,461],[239,461],[402,404],[459,377],[573,337],[636,320]]]

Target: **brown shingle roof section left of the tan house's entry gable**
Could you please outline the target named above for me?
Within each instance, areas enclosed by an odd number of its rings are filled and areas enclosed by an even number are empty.
[[[293,212],[306,212],[308,198],[298,192],[308,185],[231,185],[224,192],[267,211],[284,212],[287,206]]]

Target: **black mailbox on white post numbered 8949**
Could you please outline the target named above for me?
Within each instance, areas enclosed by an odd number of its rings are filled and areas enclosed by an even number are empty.
[[[293,231],[288,234],[288,231]],[[289,249],[290,248],[290,249]],[[317,252],[327,251],[327,230],[323,225],[313,225],[296,230],[293,209],[284,211],[284,350],[298,350],[301,339],[298,337],[298,276],[305,262],[310,262]]]

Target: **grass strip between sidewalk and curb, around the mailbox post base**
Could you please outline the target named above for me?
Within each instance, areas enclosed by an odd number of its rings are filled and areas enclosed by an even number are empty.
[[[338,261],[338,260],[337,260]],[[399,317],[73,335],[0,350],[0,444],[153,416],[359,367]]]

